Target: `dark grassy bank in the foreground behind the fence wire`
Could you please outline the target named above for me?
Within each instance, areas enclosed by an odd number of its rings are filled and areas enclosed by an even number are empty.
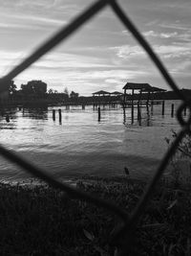
[[[89,178],[80,189],[111,199],[131,213],[145,184],[127,178]],[[128,255],[190,255],[191,190],[162,182],[136,231]],[[0,255],[111,255],[117,220],[103,209],[46,186],[0,185]]]

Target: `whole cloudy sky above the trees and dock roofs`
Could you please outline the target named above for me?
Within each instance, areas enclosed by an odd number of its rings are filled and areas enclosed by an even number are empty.
[[[0,0],[0,73],[5,76],[38,46],[67,26],[95,0]],[[191,81],[191,1],[118,0],[151,43],[180,88]],[[64,92],[89,96],[121,91],[126,82],[170,90],[137,40],[108,6],[18,75],[17,88],[41,80]]]

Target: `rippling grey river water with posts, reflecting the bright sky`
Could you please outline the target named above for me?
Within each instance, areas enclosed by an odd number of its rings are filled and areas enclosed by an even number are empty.
[[[159,160],[167,150],[165,137],[180,126],[171,117],[180,101],[165,101],[165,114],[161,105],[154,105],[153,113],[142,108],[141,124],[137,110],[132,124],[131,109],[124,116],[121,107],[101,108],[101,119],[93,106],[65,106],[47,108],[7,109],[8,123],[0,118],[0,143],[17,151],[34,164],[55,177],[70,178],[78,175],[124,175],[124,167],[134,177],[151,177]],[[58,119],[62,109],[62,121]],[[53,121],[55,109],[55,121]],[[25,180],[23,170],[0,157],[0,179]]]

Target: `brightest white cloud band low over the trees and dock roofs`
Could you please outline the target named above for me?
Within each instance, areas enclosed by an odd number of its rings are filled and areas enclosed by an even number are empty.
[[[39,70],[39,68],[30,68],[24,71],[16,79],[15,83],[18,85],[22,82],[30,81],[35,78],[48,83],[49,88],[53,87],[59,91],[63,91],[64,87],[69,90],[74,90],[80,95],[90,95],[95,90],[108,89],[119,90],[124,85],[125,81],[140,80],[144,77],[147,79],[148,73],[144,71],[135,71],[128,69],[74,69],[74,70]],[[19,85],[18,85],[19,87]]]

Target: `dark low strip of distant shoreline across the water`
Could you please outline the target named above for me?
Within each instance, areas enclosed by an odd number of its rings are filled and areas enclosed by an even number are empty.
[[[186,99],[191,99],[191,90],[181,89],[181,94]],[[132,95],[127,94],[126,100],[131,101]],[[139,99],[139,94],[134,94],[134,100]],[[148,93],[141,95],[141,100],[148,100]],[[179,95],[174,91],[156,92],[149,95],[150,101],[180,100]],[[98,104],[122,104],[122,96],[79,96],[76,98],[66,98],[63,93],[53,93],[52,95],[45,93],[41,97],[28,95],[20,97],[16,94],[10,95],[8,99],[0,101],[1,107],[9,106],[53,106],[53,105],[98,105]]]

